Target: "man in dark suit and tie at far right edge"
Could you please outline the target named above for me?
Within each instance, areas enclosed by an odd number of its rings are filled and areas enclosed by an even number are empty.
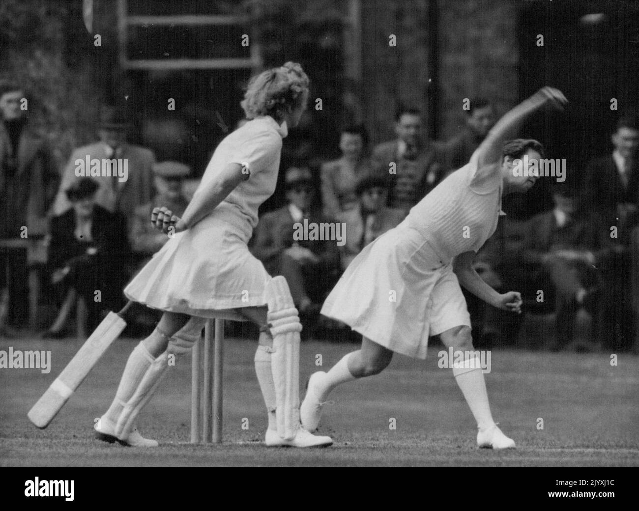
[[[609,285],[603,300],[603,324],[613,346],[626,349],[639,336],[639,279],[632,278],[639,257],[634,248],[639,225],[638,116],[620,118],[610,139],[612,154],[596,158],[586,167],[584,193],[590,207],[603,217],[608,235],[616,236],[612,238],[615,254],[606,267]],[[611,232],[612,227],[616,233]]]

